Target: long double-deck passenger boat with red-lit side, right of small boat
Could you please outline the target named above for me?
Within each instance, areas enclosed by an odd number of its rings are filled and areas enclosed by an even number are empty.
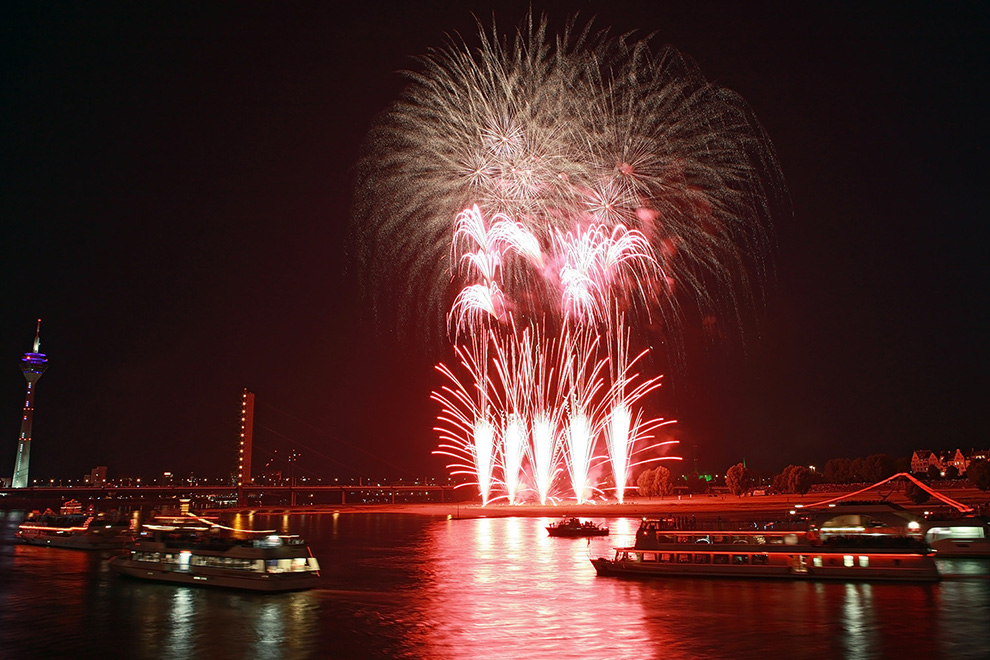
[[[916,538],[816,530],[673,530],[644,520],[633,547],[591,560],[598,575],[810,580],[939,579],[934,553]]]

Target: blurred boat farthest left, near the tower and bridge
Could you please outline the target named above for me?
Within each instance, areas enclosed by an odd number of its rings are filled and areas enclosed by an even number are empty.
[[[119,550],[134,540],[130,520],[109,514],[84,514],[78,502],[59,513],[45,511],[21,523],[15,536],[30,545],[73,550]]]

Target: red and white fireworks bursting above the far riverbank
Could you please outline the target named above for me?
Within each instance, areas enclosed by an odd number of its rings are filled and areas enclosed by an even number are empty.
[[[676,337],[687,303],[749,303],[771,145],[675,49],[590,24],[479,26],[420,64],[371,130],[355,210],[363,265],[397,276],[376,305],[454,344],[438,452],[484,503],[621,501],[669,423],[644,417],[660,376],[633,347]]]

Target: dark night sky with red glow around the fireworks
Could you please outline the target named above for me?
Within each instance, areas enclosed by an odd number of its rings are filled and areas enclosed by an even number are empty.
[[[791,210],[746,350],[658,412],[724,470],[987,446],[988,12],[978,3],[534,2],[655,33],[752,105]],[[0,473],[43,318],[33,478],[258,457],[445,474],[432,365],[349,267],[359,145],[411,57],[528,2],[27,3],[0,18]],[[4,375],[5,374],[5,375]],[[695,450],[696,448],[696,450]]]

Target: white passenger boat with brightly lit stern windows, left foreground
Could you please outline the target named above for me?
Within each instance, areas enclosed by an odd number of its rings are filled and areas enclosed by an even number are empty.
[[[320,578],[319,562],[297,536],[188,513],[155,518],[127,550],[110,568],[142,580],[277,592],[311,589]]]

